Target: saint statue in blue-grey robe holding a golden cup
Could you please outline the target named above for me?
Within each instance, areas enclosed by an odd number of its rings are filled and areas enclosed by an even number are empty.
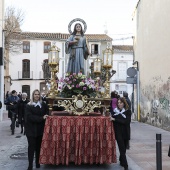
[[[67,72],[78,74],[85,73],[84,59],[90,55],[88,42],[80,23],[76,23],[74,31],[65,43],[65,52],[69,54]]]

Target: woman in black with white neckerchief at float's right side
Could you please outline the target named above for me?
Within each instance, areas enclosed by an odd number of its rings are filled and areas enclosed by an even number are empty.
[[[130,122],[131,111],[128,109],[128,104],[124,97],[118,99],[117,108],[111,112],[111,121],[113,121],[115,138],[118,144],[120,156],[120,165],[128,170],[128,163],[126,159],[126,146],[130,140]]]

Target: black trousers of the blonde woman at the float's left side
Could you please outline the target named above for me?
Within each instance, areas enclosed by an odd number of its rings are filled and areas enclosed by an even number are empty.
[[[28,161],[29,161],[29,166],[33,166],[34,153],[36,154],[35,163],[39,164],[42,136],[37,136],[37,137],[27,136],[27,140],[28,140]]]

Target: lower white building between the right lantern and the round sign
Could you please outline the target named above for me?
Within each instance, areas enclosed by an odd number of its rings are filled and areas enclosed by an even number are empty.
[[[132,67],[133,47],[130,45],[113,45],[113,70],[115,75],[111,78],[111,91],[116,90],[120,96],[126,91],[131,99],[133,85],[126,83],[127,69]]]

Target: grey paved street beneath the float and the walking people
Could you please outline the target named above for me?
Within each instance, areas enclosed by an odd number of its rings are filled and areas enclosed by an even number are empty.
[[[4,120],[0,122],[0,169],[26,170],[27,140],[20,134],[20,128],[16,128],[15,135],[10,132],[10,120],[4,114]],[[170,132],[132,121],[130,150],[127,151],[129,170],[156,170],[156,133],[162,134],[162,169],[170,169],[170,157],[168,148],[170,144]],[[118,154],[118,151],[117,151]],[[36,169],[36,168],[35,168]],[[41,165],[41,170],[123,170],[119,163],[111,165],[81,165],[69,166]]]

